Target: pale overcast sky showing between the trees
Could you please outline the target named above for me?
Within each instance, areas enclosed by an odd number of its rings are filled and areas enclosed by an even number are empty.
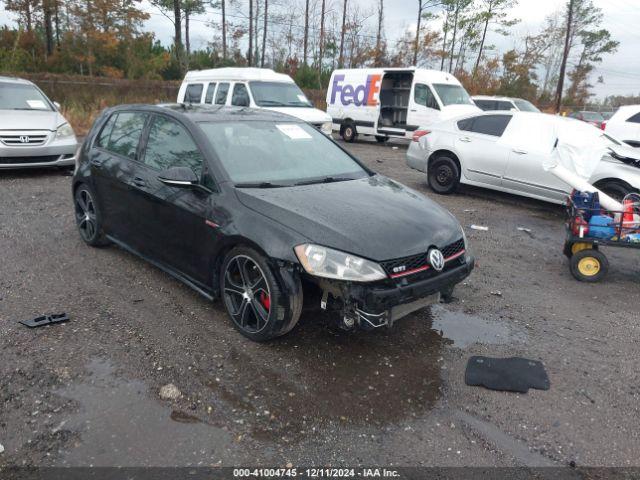
[[[287,0],[279,0],[282,4]],[[331,0],[330,0],[331,1]],[[373,9],[372,0],[349,0],[360,5],[362,10]],[[338,0],[332,0],[333,3]],[[341,3],[341,2],[338,2]],[[640,93],[640,0],[594,0],[604,13],[603,28],[607,28],[613,38],[620,42],[618,51],[606,55],[592,75],[594,93],[598,98],[607,95],[624,95]],[[390,44],[407,28],[415,31],[417,0],[385,0],[385,31]],[[565,0],[520,0],[512,10],[512,16],[521,21],[512,27],[513,35],[502,37],[491,35],[489,43],[496,46],[499,52],[520,46],[518,41],[527,34],[538,33],[547,15],[562,9]],[[635,4],[635,6],[634,6]],[[145,3],[144,9],[152,15],[145,24],[145,30],[155,32],[156,38],[164,44],[172,41],[173,23],[159,11]],[[338,7],[339,8],[339,7]],[[204,47],[212,36],[212,30],[206,20],[219,17],[205,14],[195,17],[191,23],[192,48]],[[372,25],[375,18],[371,18]],[[0,12],[0,24],[11,23],[6,11]],[[596,82],[602,76],[604,83]]]

